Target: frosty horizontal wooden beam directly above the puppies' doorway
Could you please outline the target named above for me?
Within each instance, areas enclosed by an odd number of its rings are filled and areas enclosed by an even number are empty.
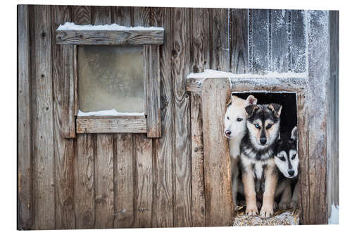
[[[208,78],[187,78],[188,92],[201,92],[204,80]],[[298,92],[305,90],[308,78],[218,78],[230,79],[232,92],[265,91],[265,92]]]

